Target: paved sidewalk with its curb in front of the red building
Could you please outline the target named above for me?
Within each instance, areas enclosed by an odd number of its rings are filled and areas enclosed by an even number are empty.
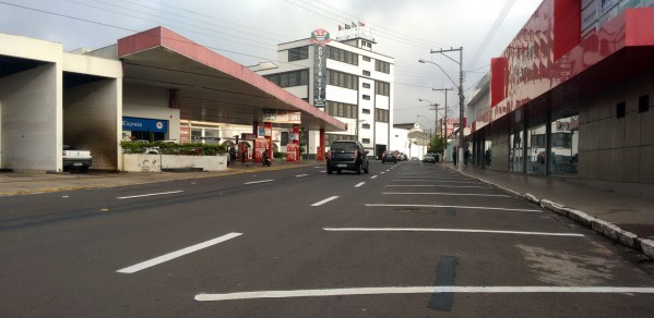
[[[440,163],[456,170],[452,163]],[[564,179],[464,166],[461,173],[523,196],[654,258],[654,199],[618,194]]]

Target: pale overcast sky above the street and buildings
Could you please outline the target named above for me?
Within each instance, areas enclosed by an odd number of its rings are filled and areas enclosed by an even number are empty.
[[[394,123],[433,127],[433,111],[419,98],[444,105],[459,65],[430,50],[463,47],[464,88],[488,72],[542,0],[3,0],[0,33],[61,42],[64,50],[97,49],[154,26],[166,26],[241,64],[276,60],[276,45],[308,38],[338,24],[364,22],[378,42],[373,50],[395,58]],[[10,4],[7,4],[10,3]],[[510,8],[488,45],[494,24]],[[506,10],[504,10],[506,11]],[[352,32],[352,30],[350,30]],[[0,44],[2,45],[2,44]],[[457,60],[459,54],[452,57]],[[475,59],[476,57],[476,59]],[[450,91],[450,108],[456,102]],[[457,112],[451,112],[456,113]],[[442,115],[442,114],[440,114]],[[439,117],[440,117],[439,115]],[[427,118],[427,119],[426,119]]]

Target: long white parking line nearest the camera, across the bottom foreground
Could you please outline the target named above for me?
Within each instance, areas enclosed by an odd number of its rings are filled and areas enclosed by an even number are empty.
[[[345,295],[382,294],[433,294],[433,293],[476,293],[476,294],[521,294],[521,293],[575,293],[575,294],[654,294],[654,288],[614,286],[407,286],[407,288],[361,288],[332,290],[259,291],[229,294],[199,294],[198,302],[219,302],[257,298],[328,297]]]

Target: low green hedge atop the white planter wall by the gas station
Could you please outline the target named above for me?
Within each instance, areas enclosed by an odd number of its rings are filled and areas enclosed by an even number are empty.
[[[225,145],[120,142],[122,154],[160,151],[162,155],[216,156],[227,154]]]

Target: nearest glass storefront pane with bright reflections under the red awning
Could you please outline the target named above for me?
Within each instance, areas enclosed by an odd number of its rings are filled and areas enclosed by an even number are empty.
[[[571,109],[552,114],[551,157],[549,171],[552,175],[576,175],[579,161],[579,114]],[[556,117],[556,119],[555,119]]]

